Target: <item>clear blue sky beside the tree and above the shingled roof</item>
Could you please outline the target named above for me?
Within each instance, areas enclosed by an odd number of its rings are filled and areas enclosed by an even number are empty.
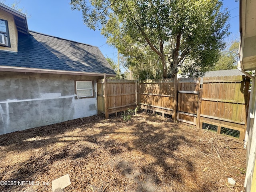
[[[5,0],[10,6],[15,0]],[[106,44],[100,31],[90,30],[83,24],[82,12],[72,11],[70,0],[16,0],[19,8],[27,11],[30,30],[74,40],[100,47],[105,57],[117,60],[117,50]],[[224,0],[224,7],[230,10],[230,32],[228,40],[239,37],[239,3]]]

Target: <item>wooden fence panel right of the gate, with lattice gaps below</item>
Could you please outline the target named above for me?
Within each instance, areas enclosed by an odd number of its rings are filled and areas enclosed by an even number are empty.
[[[204,77],[200,127],[244,139],[250,78]]]

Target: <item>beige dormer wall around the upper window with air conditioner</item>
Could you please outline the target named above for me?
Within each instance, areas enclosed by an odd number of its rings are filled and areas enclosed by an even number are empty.
[[[4,10],[0,10],[0,19],[8,21],[9,37],[11,44],[11,47],[0,46],[0,50],[18,52],[18,31],[14,22],[13,15]]]

